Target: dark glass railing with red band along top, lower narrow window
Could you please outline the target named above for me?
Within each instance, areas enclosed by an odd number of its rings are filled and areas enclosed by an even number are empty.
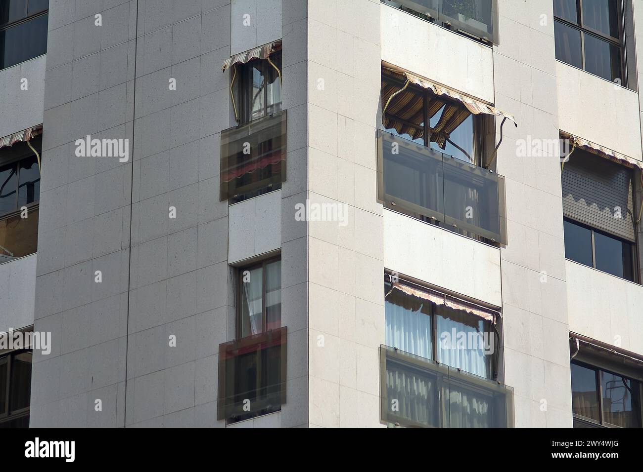
[[[219,344],[217,419],[235,423],[285,404],[287,328]]]

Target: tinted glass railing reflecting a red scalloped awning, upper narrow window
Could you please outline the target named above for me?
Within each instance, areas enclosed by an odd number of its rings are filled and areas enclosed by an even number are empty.
[[[221,201],[240,202],[285,182],[286,110],[221,132]]]

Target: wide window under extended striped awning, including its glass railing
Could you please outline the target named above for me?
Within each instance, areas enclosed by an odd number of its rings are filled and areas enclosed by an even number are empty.
[[[494,120],[388,69],[381,93],[379,200],[450,231],[506,243],[503,178],[484,166]]]

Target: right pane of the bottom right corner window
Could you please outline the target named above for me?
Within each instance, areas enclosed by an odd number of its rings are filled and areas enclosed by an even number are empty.
[[[623,428],[640,427],[638,382],[611,372],[601,372],[604,423]]]

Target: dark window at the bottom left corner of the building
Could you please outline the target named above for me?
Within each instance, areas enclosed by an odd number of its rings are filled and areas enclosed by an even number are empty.
[[[32,352],[0,355],[0,428],[28,428]]]

